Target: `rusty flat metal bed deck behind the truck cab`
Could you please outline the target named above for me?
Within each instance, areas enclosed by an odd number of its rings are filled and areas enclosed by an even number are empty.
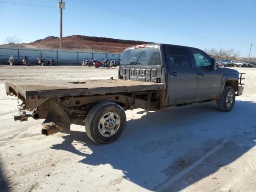
[[[10,91],[28,99],[38,95],[39,98],[62,96],[79,96],[93,94],[108,94],[118,92],[133,92],[146,90],[161,90],[166,84],[140,82],[131,80],[15,80],[5,82],[6,93]]]

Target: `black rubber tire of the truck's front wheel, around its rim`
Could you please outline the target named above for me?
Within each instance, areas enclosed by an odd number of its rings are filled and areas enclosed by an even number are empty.
[[[230,93],[232,93],[232,104],[228,106],[227,99]],[[224,112],[231,111],[234,107],[235,102],[236,102],[236,94],[235,94],[234,88],[225,86],[221,97],[217,101],[218,110],[224,111]]]

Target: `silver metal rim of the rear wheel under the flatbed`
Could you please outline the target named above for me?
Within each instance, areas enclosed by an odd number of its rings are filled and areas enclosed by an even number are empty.
[[[99,132],[104,137],[110,137],[116,134],[120,127],[120,118],[114,112],[108,112],[100,118]]]

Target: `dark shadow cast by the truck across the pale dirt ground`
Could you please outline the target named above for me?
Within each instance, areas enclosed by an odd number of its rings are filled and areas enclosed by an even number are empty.
[[[231,112],[219,112],[215,104],[148,112],[140,119],[128,120],[124,134],[112,144],[100,146],[84,132],[70,130],[70,135],[63,136],[62,144],[51,148],[84,156],[80,161],[84,164],[110,164],[114,169],[122,170],[122,179],[158,191],[157,186],[168,178],[175,178],[229,137],[218,150],[220,158],[214,162],[208,160],[207,168],[197,170],[198,174],[192,180],[186,180],[186,177],[182,182],[177,180],[171,190],[176,191],[213,174],[255,146],[255,111],[256,102],[236,101]],[[72,145],[73,142],[82,143],[92,153],[81,152]],[[118,184],[114,186],[118,187]]]

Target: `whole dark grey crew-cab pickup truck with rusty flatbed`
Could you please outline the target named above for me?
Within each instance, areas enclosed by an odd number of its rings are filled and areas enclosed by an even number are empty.
[[[42,134],[85,124],[98,144],[117,140],[126,126],[125,110],[171,110],[214,102],[228,112],[242,95],[242,73],[218,68],[197,48],[146,44],[124,50],[118,79],[8,81],[8,95],[21,100],[15,120],[45,119]]]

